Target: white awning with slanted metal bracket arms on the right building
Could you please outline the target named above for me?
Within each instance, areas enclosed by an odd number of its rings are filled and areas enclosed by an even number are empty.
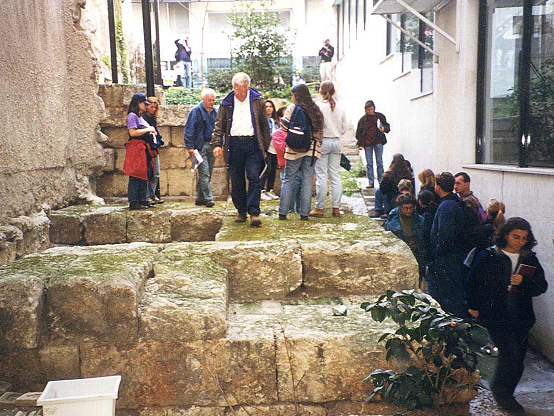
[[[456,39],[454,39],[452,36],[450,36],[447,32],[443,31],[440,27],[438,27],[435,23],[429,21],[425,16],[423,16],[422,13],[429,12],[434,8],[442,7],[444,4],[448,3],[449,0],[379,0],[379,2],[373,7],[373,11],[371,14],[379,14],[384,19],[386,19],[387,22],[393,24],[393,26],[397,26],[396,23],[392,22],[391,19],[389,19],[386,15],[387,14],[397,14],[397,13],[404,13],[404,12],[410,12],[414,14],[420,21],[424,22],[429,26],[430,28],[433,28],[435,32],[442,35],[445,39],[448,39],[450,42],[452,42],[456,46],[456,52],[459,51],[459,45],[456,42]],[[458,31],[459,24],[460,24],[460,9],[461,1],[456,2],[456,31]],[[419,40],[413,35],[407,33],[404,31],[403,28],[398,27],[402,32],[406,33],[410,38],[414,39],[417,43],[421,44]],[[456,33],[456,37],[458,37],[458,34]],[[430,50],[428,47],[425,47],[422,45],[425,49],[428,49],[429,52],[433,53],[436,57],[439,55],[434,51]]]

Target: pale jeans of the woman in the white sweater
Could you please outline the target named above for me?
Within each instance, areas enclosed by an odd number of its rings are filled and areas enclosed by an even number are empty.
[[[337,138],[323,138],[321,158],[315,163],[315,207],[325,209],[327,199],[327,173],[331,182],[331,207],[341,206],[341,142]]]

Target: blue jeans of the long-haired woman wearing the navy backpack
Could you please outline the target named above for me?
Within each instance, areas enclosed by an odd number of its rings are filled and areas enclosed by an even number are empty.
[[[304,156],[296,160],[287,160],[285,165],[285,177],[281,184],[281,197],[279,199],[279,214],[286,215],[293,201],[294,181],[298,172],[302,175],[300,186],[300,215],[307,216],[311,210],[311,184],[314,177],[314,166],[311,165],[313,156]]]

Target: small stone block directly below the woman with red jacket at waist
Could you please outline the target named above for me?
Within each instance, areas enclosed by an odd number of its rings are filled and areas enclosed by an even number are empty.
[[[171,212],[167,210],[129,211],[127,241],[170,242]]]

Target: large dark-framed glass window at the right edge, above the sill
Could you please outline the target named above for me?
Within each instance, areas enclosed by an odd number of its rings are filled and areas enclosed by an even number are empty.
[[[554,166],[554,0],[489,0],[478,162]]]

